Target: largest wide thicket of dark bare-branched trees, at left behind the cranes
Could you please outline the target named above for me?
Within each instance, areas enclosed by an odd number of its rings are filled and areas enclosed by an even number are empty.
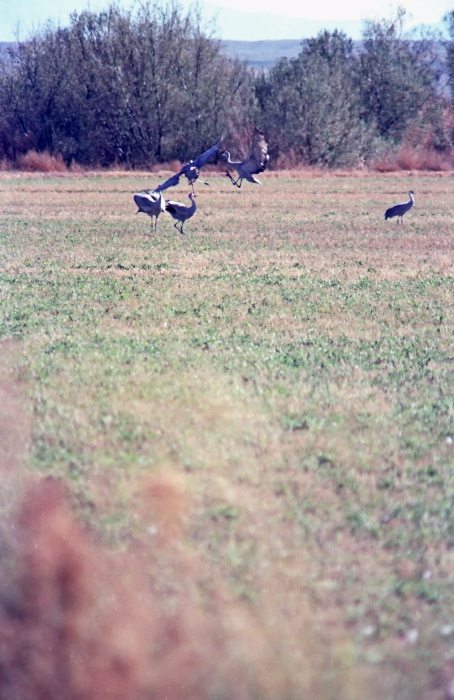
[[[67,162],[132,166],[186,160],[253,110],[252,76],[221,53],[196,12],[141,4],[74,13],[18,45],[0,76],[16,140]],[[6,104],[6,102],[5,102]]]

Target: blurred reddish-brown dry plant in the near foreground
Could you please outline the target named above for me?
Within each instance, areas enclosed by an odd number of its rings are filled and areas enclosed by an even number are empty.
[[[151,558],[139,541],[123,555],[97,545],[54,481],[26,492],[14,535],[3,533],[11,550],[0,591],[2,698],[289,694],[264,628],[221,586],[205,602],[197,595],[200,571],[175,543],[178,489],[161,479],[145,492],[148,517],[158,514]]]

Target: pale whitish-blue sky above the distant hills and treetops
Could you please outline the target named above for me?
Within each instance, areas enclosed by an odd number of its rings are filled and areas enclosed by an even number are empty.
[[[134,4],[132,0],[117,0],[117,3],[125,8]],[[74,10],[81,12],[89,8],[98,12],[109,4],[109,0],[0,0],[0,41],[14,41],[17,29],[19,38],[26,39],[30,32],[37,30],[49,19],[64,26]],[[194,1],[179,0],[179,4],[188,8]],[[353,36],[353,29],[349,31],[351,27],[348,22],[358,23],[364,19],[387,17],[395,12],[398,5],[402,5],[408,11],[408,28],[418,24],[437,24],[446,12],[454,9],[454,0],[392,0],[388,3],[385,1],[380,9],[377,9],[377,0],[318,0],[314,4],[300,0],[199,0],[199,5],[207,18],[217,16],[217,35],[222,39],[243,39],[245,35],[252,40],[296,38],[285,36],[286,31],[292,33],[286,29],[287,26],[292,27],[292,21],[288,20],[286,24],[285,18],[297,20],[293,33],[301,32],[303,20],[336,21],[339,29],[344,29],[348,36],[358,38]],[[249,26],[241,26],[242,16],[233,15],[232,10],[241,13],[257,12],[262,20],[269,21],[259,22],[254,33],[250,16],[244,17],[244,24]],[[266,18],[266,15],[272,17]],[[273,21],[278,19],[282,21]],[[346,24],[342,26],[342,22]],[[312,32],[313,29],[308,31]]]

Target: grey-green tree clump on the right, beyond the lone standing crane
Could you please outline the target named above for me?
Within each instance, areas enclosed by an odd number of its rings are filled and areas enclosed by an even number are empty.
[[[359,47],[342,32],[322,32],[260,77],[256,94],[275,158],[377,162],[418,130],[427,151],[449,153],[440,54],[433,41],[404,38],[403,18],[399,10],[394,20],[367,22]]]

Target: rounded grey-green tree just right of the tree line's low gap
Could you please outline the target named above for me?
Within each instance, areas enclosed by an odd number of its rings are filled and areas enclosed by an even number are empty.
[[[366,155],[371,134],[360,118],[357,63],[351,39],[325,31],[261,77],[257,98],[279,153],[327,166]]]

